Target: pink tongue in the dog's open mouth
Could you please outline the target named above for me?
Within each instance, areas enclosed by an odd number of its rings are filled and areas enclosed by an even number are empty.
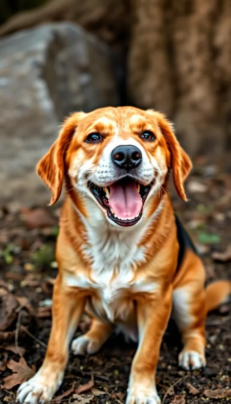
[[[110,185],[109,206],[120,219],[131,219],[139,215],[142,199],[135,182]]]

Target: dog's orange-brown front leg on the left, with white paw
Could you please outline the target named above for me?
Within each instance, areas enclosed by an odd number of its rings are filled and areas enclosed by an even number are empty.
[[[63,285],[57,277],[52,300],[52,328],[42,367],[18,390],[18,401],[28,404],[49,402],[63,381],[69,343],[85,305],[83,292]]]

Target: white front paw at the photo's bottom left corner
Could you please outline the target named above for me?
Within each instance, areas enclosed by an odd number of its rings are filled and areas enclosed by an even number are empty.
[[[60,387],[63,375],[52,374],[50,377],[36,373],[30,380],[19,387],[17,401],[23,404],[44,404],[49,402]]]

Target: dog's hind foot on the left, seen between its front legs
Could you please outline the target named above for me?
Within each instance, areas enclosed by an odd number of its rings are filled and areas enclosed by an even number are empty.
[[[75,355],[94,354],[113,332],[113,324],[92,318],[90,330],[72,341],[71,350]]]

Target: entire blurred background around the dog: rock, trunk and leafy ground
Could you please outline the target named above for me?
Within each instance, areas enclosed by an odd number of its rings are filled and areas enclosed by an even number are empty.
[[[231,278],[231,0],[0,0],[3,377],[14,370],[12,358],[38,368],[50,331],[60,210],[45,208],[50,195],[35,166],[65,116],[108,105],[153,108],[173,121],[194,164],[185,185],[189,201],[173,193],[174,207],[208,281]],[[228,304],[208,317],[208,367],[186,380],[177,366],[180,338],[166,332],[158,368],[165,404],[226,399],[230,324]],[[76,335],[88,326],[85,319]],[[78,403],[124,402],[135,351],[116,341],[92,359],[71,358],[62,391],[73,377],[89,382],[93,368],[103,396],[91,393]],[[14,404],[17,383],[4,382],[0,402]],[[174,394],[181,398],[174,401]]]

